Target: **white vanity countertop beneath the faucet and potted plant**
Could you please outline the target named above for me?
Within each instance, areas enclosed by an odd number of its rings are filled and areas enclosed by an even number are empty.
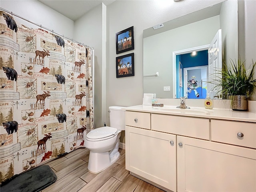
[[[189,117],[200,117],[210,119],[234,120],[244,122],[256,122],[256,113],[247,111],[234,111],[232,109],[205,109],[191,107],[191,109],[178,109],[176,106],[152,107],[146,105],[136,105],[124,108],[126,111],[148,112],[155,114],[168,114]],[[168,110],[170,109],[170,110]],[[173,110],[172,110],[173,109]]]

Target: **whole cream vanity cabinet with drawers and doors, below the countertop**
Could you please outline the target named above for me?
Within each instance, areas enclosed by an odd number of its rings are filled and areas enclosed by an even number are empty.
[[[256,123],[126,111],[126,169],[174,192],[256,192]]]

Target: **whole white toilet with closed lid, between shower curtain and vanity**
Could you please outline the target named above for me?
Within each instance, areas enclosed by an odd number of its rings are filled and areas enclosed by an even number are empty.
[[[90,150],[88,170],[98,173],[116,162],[121,131],[125,130],[124,107],[110,106],[110,127],[100,127],[86,134],[84,146]]]

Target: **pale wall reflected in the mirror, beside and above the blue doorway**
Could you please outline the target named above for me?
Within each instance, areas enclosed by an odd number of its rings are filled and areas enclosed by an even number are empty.
[[[159,72],[159,76],[144,77],[143,92],[156,93],[156,98],[172,98],[172,52],[210,44],[219,28],[219,16],[214,16],[144,38],[143,74]],[[170,91],[164,91],[164,86],[170,86]]]

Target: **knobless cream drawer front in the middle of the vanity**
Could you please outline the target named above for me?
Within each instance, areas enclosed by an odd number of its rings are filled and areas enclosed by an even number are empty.
[[[173,115],[151,115],[151,129],[209,140],[209,119]]]

